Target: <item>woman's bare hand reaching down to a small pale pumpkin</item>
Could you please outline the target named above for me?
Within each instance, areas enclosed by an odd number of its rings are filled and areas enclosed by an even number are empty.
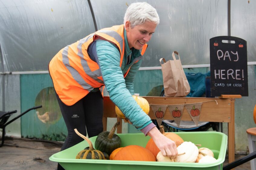
[[[147,135],[154,140],[156,146],[162,152],[163,156],[168,156],[171,159],[177,158],[178,150],[173,140],[170,140],[161,134],[156,127],[152,128]]]

